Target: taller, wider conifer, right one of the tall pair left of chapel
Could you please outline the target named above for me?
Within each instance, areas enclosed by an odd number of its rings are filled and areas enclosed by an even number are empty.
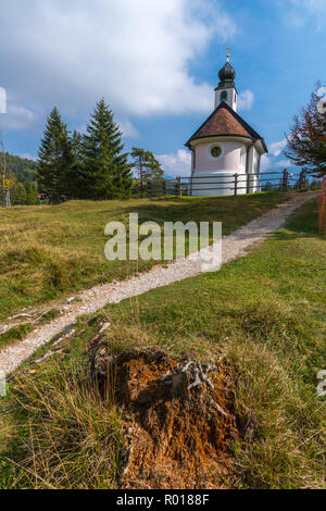
[[[83,197],[93,200],[130,197],[133,179],[122,134],[104,99],[96,105],[83,138]]]

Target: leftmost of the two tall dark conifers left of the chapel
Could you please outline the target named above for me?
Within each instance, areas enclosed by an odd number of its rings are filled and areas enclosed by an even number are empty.
[[[74,155],[66,125],[57,107],[47,119],[38,158],[40,186],[50,196],[51,202],[59,203],[67,198],[67,174],[74,163]]]

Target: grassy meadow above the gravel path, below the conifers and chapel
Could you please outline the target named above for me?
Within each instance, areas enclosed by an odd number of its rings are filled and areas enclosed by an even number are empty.
[[[60,205],[0,209],[0,321],[28,306],[68,296],[146,271],[152,261],[110,262],[104,227],[111,221],[220,221],[224,234],[250,222],[288,194],[227,198],[72,201]]]

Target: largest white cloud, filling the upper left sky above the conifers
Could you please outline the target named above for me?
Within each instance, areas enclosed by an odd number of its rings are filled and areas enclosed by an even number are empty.
[[[104,97],[123,119],[210,111],[212,88],[189,66],[237,27],[216,0],[11,0],[0,30],[20,104],[73,117]]]

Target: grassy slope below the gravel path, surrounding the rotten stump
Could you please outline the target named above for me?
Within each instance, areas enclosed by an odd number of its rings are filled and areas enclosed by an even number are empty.
[[[310,202],[220,272],[80,319],[63,358],[9,385],[0,413],[0,487],[118,486],[123,412],[98,400],[86,371],[87,342],[104,316],[112,353],[158,345],[223,366],[256,421],[253,439],[235,449],[237,487],[324,487],[325,399],[316,395],[316,374],[326,363],[326,242],[316,233],[317,208]]]

